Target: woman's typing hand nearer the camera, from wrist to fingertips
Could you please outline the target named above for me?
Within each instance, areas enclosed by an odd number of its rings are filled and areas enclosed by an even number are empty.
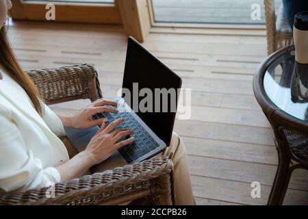
[[[127,138],[121,142],[118,142],[121,138],[129,136],[133,131],[129,129],[116,129],[115,127],[123,123],[124,119],[119,118],[114,120],[114,122],[110,123],[106,127],[106,123],[103,122],[101,125],[101,129],[97,131],[97,133],[90,140],[88,146],[84,153],[90,155],[90,159],[92,161],[92,165],[99,164],[103,162],[105,159],[110,157],[117,149],[125,146],[135,140],[135,138]]]

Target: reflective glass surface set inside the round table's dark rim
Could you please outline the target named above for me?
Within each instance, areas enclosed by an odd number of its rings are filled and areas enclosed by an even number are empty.
[[[264,75],[264,90],[270,101],[283,112],[308,123],[308,72],[294,73],[295,51],[277,57]]]

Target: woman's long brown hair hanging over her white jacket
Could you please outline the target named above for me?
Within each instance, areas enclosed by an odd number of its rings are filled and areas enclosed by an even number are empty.
[[[8,36],[6,34],[7,27],[3,25],[0,29],[0,66],[7,71],[7,73],[14,79],[22,88],[27,92],[29,98],[31,99],[34,108],[42,116],[42,98],[36,88],[34,82],[30,77],[23,71],[21,66],[18,64],[16,57],[8,41]]]

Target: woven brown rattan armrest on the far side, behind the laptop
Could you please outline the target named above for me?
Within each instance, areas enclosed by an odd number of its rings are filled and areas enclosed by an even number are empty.
[[[48,104],[102,97],[97,71],[90,64],[29,70],[28,75]]]

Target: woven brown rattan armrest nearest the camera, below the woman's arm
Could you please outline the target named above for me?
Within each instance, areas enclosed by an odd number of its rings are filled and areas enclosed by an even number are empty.
[[[120,204],[153,194],[159,197],[159,203],[172,204],[172,169],[168,157],[153,157],[141,163],[56,183],[54,190],[46,187],[23,193],[3,193],[0,194],[0,205]],[[47,194],[51,197],[47,198]]]

